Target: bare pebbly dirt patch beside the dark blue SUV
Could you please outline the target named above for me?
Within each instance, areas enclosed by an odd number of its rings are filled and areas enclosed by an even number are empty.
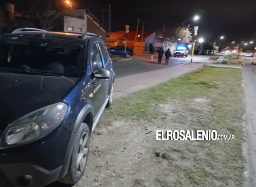
[[[211,101],[169,99],[156,105],[155,110],[156,115],[144,119],[129,117],[113,121],[109,116],[108,123],[100,121],[91,136],[86,172],[77,186],[222,186],[221,176],[209,176],[203,181],[193,176],[193,164],[197,161],[208,170],[202,169],[202,175],[218,175],[223,170],[221,162],[214,166],[203,162],[209,156],[205,150],[214,146],[213,141],[203,144],[202,141],[156,140],[157,130],[210,130],[202,129],[199,121],[213,115]],[[222,154],[221,150],[215,151]],[[233,181],[227,185],[237,186]]]

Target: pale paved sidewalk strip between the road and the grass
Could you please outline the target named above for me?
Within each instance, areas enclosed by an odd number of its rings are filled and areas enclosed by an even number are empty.
[[[158,69],[134,75],[125,76],[115,79],[113,99],[138,90],[149,88],[171,78],[176,78],[182,74],[194,71],[204,64],[192,63],[176,65],[169,68]]]

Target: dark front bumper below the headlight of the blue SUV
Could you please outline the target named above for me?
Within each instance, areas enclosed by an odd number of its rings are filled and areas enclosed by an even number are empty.
[[[59,126],[33,143],[0,150],[0,186],[42,187],[58,180],[67,167],[70,136]]]

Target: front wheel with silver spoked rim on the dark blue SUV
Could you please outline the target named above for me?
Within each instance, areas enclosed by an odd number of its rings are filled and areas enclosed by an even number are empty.
[[[81,123],[73,144],[72,155],[66,175],[60,183],[75,184],[79,182],[86,167],[90,148],[90,129],[86,123]],[[79,163],[79,165],[77,164]]]

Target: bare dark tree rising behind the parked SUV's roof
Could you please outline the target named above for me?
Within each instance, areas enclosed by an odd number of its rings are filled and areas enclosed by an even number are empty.
[[[30,2],[42,29],[51,30],[64,15],[63,4],[60,4],[59,8],[53,11],[52,0],[30,0]]]

